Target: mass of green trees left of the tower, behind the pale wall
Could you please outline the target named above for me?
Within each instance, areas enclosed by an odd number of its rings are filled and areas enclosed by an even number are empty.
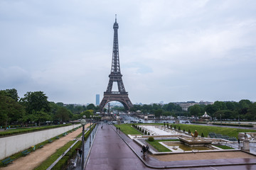
[[[97,111],[93,104],[88,106],[75,106],[73,104],[54,103],[48,101],[48,96],[43,91],[28,91],[23,98],[18,96],[16,89],[0,91],[0,125],[11,124],[37,124],[68,123],[78,120],[82,115],[90,118]]]

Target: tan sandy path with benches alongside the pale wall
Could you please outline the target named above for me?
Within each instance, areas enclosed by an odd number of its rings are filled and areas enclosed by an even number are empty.
[[[85,128],[90,124],[85,125]],[[65,137],[60,137],[58,140],[54,140],[52,143],[44,145],[43,148],[37,149],[35,152],[31,152],[26,157],[20,157],[16,159],[12,164],[6,167],[0,168],[1,170],[32,170],[42,164],[50,155],[56,152],[57,149],[63,147],[67,142],[73,140],[82,132],[82,128],[70,132]]]

